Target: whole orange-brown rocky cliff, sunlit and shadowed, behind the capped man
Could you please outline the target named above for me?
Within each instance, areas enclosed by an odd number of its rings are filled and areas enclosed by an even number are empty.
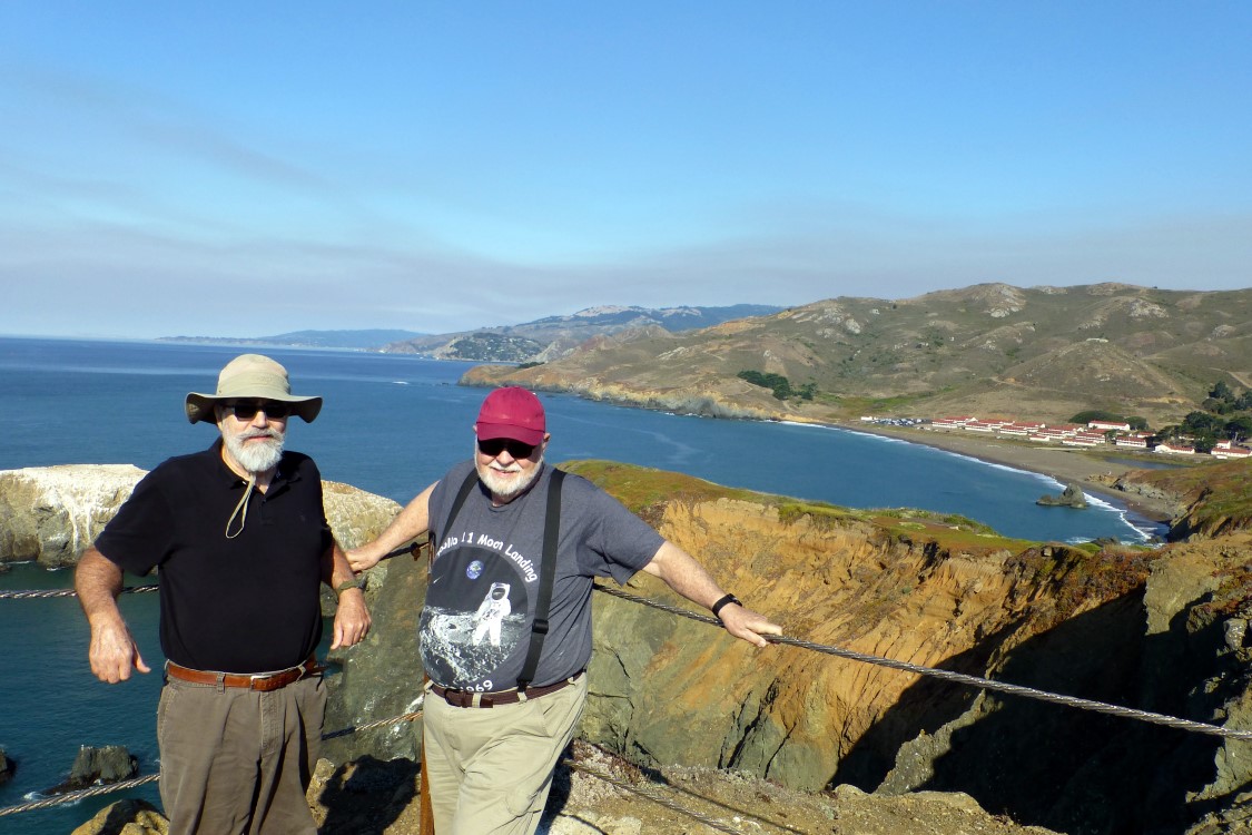
[[[1252,727],[1249,651],[1238,628],[1248,613],[1247,538],[1159,551],[1023,548],[924,516],[745,498],[631,467],[567,467],[602,481],[789,636]],[[389,687],[388,711],[406,706],[398,694],[416,692],[419,680],[407,665],[422,567],[389,572],[371,581],[374,612],[403,636],[376,630],[344,677],[344,701]],[[642,575],[631,591],[677,602]],[[1206,815],[1229,821],[1244,809],[1252,746],[1243,741],[798,647],[755,651],[637,603],[607,595],[595,603],[581,735],[644,766],[731,769],[795,789],[854,785],[880,796],[960,791],[994,814],[1064,832],[1183,832]],[[367,661],[392,651],[388,642],[406,646],[389,661]],[[358,663],[377,677],[354,677]],[[413,746],[412,736],[402,745]]]

